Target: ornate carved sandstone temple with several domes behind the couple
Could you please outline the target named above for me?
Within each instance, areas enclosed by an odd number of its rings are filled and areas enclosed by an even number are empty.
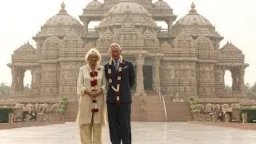
[[[58,11],[58,10],[56,10]],[[199,10],[198,10],[199,11]],[[82,24],[61,10],[41,27],[33,39],[14,50],[11,63],[11,97],[76,99],[78,70],[85,54],[97,47],[102,64],[109,61],[109,46],[122,46],[124,58],[134,63],[134,94],[161,91],[168,98],[246,98],[245,56],[231,42],[219,47],[223,37],[195,9],[177,15],[164,1],[91,0],[79,15]],[[90,22],[99,22],[89,29]],[[156,22],[166,22],[162,29]],[[31,71],[31,90],[24,91],[26,70]],[[233,85],[226,92],[224,75],[230,70]]]

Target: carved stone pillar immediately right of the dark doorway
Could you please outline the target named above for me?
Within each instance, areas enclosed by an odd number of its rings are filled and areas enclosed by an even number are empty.
[[[153,90],[161,90],[160,89],[159,67],[160,67],[160,58],[159,57],[154,57]]]

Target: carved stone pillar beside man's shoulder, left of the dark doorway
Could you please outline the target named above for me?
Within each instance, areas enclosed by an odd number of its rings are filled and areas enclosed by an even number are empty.
[[[136,74],[136,93],[144,93],[144,78],[143,78],[143,64],[146,54],[138,54],[135,56],[137,62],[137,74]]]

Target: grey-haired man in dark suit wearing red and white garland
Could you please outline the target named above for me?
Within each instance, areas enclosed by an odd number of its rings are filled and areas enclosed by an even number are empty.
[[[106,104],[112,144],[130,144],[130,89],[134,86],[134,66],[122,58],[118,43],[110,45],[110,62],[106,63],[105,74],[109,83]]]

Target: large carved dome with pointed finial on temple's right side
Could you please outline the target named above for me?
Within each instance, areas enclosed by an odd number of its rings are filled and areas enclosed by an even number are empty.
[[[194,10],[194,7],[194,3],[192,3],[190,13],[180,18],[175,26],[212,26],[206,18]]]

